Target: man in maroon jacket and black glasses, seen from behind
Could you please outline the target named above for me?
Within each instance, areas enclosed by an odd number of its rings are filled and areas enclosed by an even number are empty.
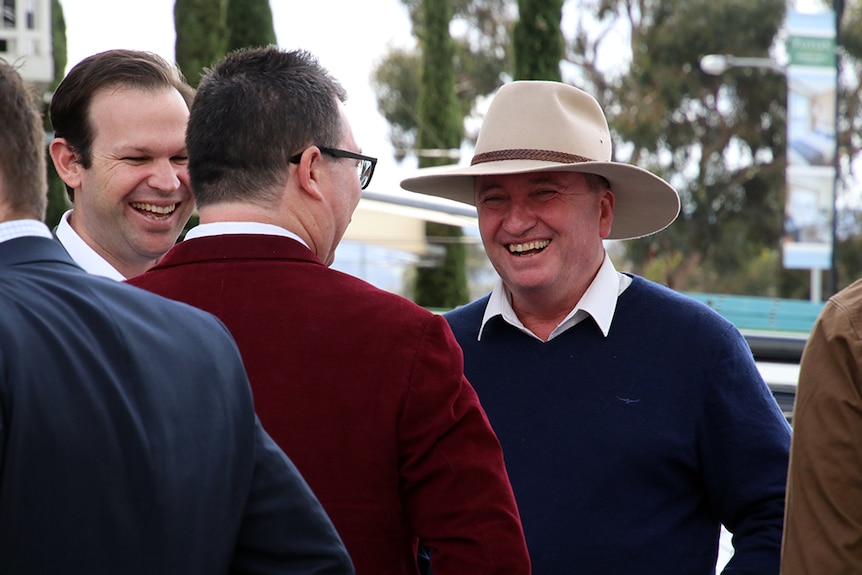
[[[530,572],[500,444],[442,317],[331,270],[376,160],[307,52],[235,52],[202,80],[186,143],[201,225],[140,287],[236,338],[264,427],[360,575]],[[158,358],[156,358],[156,361]]]

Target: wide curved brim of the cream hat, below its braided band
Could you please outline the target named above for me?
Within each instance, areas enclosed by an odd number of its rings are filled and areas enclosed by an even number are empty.
[[[473,166],[423,168],[401,181],[411,192],[428,194],[475,205],[476,176],[532,172],[580,172],[603,176],[614,193],[614,221],[609,240],[627,240],[654,234],[679,215],[679,194],[655,174],[618,162],[560,164],[536,160],[505,160]]]

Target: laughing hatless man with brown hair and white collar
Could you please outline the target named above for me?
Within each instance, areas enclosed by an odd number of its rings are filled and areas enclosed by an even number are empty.
[[[73,209],[57,238],[86,271],[124,280],[171,246],[194,209],[185,130],[194,91],[160,56],[79,62],[51,100],[51,158]]]

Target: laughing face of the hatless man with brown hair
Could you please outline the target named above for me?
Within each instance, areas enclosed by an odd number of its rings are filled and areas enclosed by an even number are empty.
[[[92,164],[80,170],[71,224],[126,277],[174,245],[194,208],[188,117],[173,89],[105,89],[90,105]]]

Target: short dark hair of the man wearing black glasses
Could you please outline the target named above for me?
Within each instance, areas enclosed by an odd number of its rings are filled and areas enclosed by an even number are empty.
[[[338,102],[346,99],[304,50],[268,46],[225,56],[201,79],[186,130],[198,206],[275,199],[292,155],[310,145],[338,146]]]

